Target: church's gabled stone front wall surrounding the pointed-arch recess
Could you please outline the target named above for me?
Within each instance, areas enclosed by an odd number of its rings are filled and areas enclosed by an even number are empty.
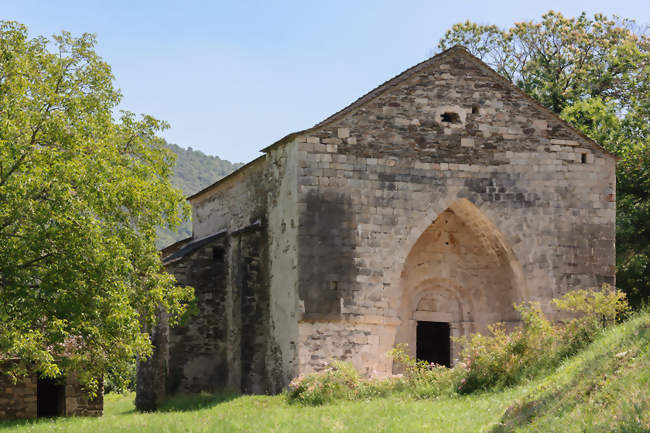
[[[392,370],[404,261],[461,198],[513,249],[521,299],[553,315],[553,297],[614,283],[615,159],[467,56],[298,141],[301,373]]]

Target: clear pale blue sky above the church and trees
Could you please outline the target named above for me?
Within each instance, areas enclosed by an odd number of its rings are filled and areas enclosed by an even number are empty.
[[[171,142],[246,162],[427,58],[454,23],[507,27],[549,9],[650,24],[648,0],[0,0],[0,19],[96,33],[122,108],[168,121]]]

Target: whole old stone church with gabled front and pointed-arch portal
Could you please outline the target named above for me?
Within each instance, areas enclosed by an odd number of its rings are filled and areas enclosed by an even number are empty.
[[[428,59],[189,197],[163,251],[198,313],[152,331],[137,402],[275,393],[332,359],[388,375],[408,344],[515,323],[513,304],[614,283],[613,155],[462,47]]]

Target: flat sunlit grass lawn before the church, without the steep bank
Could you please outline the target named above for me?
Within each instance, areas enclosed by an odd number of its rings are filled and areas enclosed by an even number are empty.
[[[135,412],[133,395],[106,397],[104,416],[0,424],[4,432],[478,432],[497,422],[526,393],[439,401],[380,398],[319,407],[289,405],[282,396],[207,397],[173,403],[166,412]]]

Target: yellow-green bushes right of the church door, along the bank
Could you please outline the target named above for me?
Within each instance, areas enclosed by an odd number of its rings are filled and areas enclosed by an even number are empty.
[[[572,291],[553,303],[576,317],[554,325],[539,304],[524,303],[516,306],[522,325],[512,332],[496,324],[487,335],[459,338],[463,351],[457,367],[466,370],[459,392],[512,386],[548,372],[591,343],[628,309],[625,294],[608,286],[600,291]]]

